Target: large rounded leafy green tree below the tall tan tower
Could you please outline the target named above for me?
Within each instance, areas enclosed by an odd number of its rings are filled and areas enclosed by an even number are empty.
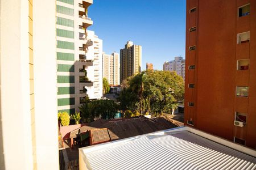
[[[130,77],[118,98],[120,109],[142,115],[171,112],[184,99],[184,80],[176,72],[143,71]]]

